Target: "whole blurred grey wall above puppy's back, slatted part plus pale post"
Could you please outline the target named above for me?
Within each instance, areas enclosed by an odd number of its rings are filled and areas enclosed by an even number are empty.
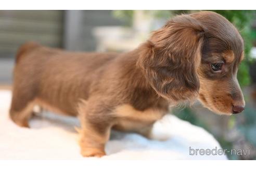
[[[122,25],[111,10],[0,10],[0,58],[14,57],[25,41],[93,51],[95,26]]]

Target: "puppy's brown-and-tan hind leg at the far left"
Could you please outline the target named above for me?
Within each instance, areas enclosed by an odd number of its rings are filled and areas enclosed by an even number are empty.
[[[29,127],[29,118],[33,114],[34,97],[31,92],[18,91],[12,92],[11,107],[9,115],[12,121],[21,127]]]

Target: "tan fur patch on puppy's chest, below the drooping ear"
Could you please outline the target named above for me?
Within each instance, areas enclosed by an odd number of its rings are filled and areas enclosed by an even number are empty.
[[[129,104],[124,104],[118,106],[114,111],[114,114],[118,117],[114,124],[114,129],[122,131],[138,130],[145,126],[152,125],[167,113],[167,110],[160,108],[148,108],[141,111]]]

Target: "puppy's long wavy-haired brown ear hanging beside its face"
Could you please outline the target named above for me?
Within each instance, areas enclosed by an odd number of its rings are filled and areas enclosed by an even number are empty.
[[[190,16],[177,16],[140,46],[137,65],[160,96],[173,102],[197,98],[200,87],[197,69],[205,31]]]

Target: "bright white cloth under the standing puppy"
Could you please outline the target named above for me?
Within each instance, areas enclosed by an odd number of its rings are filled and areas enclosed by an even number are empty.
[[[0,159],[99,159],[83,158],[74,125],[79,121],[43,112],[32,118],[31,128],[22,128],[8,117],[11,92],[0,91]],[[149,140],[139,134],[111,132],[106,144],[107,156],[100,159],[218,159],[225,155],[189,155],[193,149],[221,148],[211,134],[201,127],[167,115],[158,121],[153,134],[168,140]]]

